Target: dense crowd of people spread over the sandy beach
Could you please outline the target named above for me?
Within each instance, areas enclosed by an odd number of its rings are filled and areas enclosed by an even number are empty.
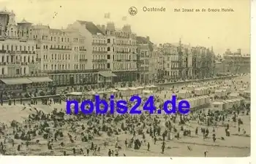
[[[241,78],[241,77],[240,77]],[[239,78],[230,79],[234,90],[241,85]],[[209,82],[209,85],[217,83]],[[219,82],[225,83],[225,82]],[[155,106],[161,109],[163,102],[179,88],[165,90],[160,87],[154,93]],[[79,87],[76,90],[88,88]],[[67,88],[69,92],[74,88]],[[121,93],[117,98],[126,99]],[[65,98],[34,98],[31,101],[10,101],[1,106],[15,106],[18,113],[27,112],[23,120],[2,122],[0,125],[0,153],[2,155],[85,155],[85,156],[172,156],[172,149],[186,145],[187,152],[197,145],[200,155],[211,154],[209,147],[249,149],[249,147],[225,145],[236,136],[247,139],[250,132],[245,120],[249,109],[245,104],[230,111],[214,111],[210,107],[181,114],[71,114],[64,109]],[[103,95],[102,98],[108,97]],[[144,97],[146,99],[146,97]],[[93,99],[93,96],[92,96]],[[133,104],[128,103],[131,107]],[[0,111],[1,111],[0,106]],[[45,112],[44,108],[51,109]],[[49,111],[49,110],[48,110]],[[1,120],[0,120],[1,122]],[[195,141],[197,143],[194,143]],[[182,155],[181,155],[182,156]],[[185,155],[185,156],[189,156]]]

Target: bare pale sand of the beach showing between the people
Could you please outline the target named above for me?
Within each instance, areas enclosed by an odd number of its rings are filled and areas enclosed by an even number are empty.
[[[237,78],[237,80],[240,80]],[[244,80],[244,77],[243,77]],[[229,82],[225,80],[225,82]],[[164,95],[170,95],[170,90],[164,90],[162,93],[156,93],[159,97],[164,99]],[[48,114],[53,111],[54,108],[56,109],[65,109],[65,103],[62,104],[53,104],[51,106],[45,106],[42,104],[32,105],[37,110],[42,110],[45,114]],[[34,111],[30,111],[29,109],[21,110],[24,106],[21,104],[16,104],[15,106],[8,106],[4,104],[4,106],[0,107],[1,110],[1,122],[11,122],[12,120],[17,120],[18,122],[23,122],[29,114],[35,114]],[[29,108],[29,107],[28,107]],[[207,111],[207,109],[204,109]],[[72,117],[72,116],[66,116]],[[162,125],[162,129],[165,128],[165,120],[162,115],[159,115],[159,120],[161,120],[160,125]],[[231,116],[229,116],[231,117]],[[147,145],[142,144],[140,149],[130,149],[125,147],[124,141],[126,139],[132,138],[132,134],[126,133],[121,131],[118,135],[108,136],[106,133],[101,133],[101,136],[94,136],[93,142],[101,147],[99,154],[100,156],[107,156],[108,149],[113,149],[115,147],[115,141],[118,141],[118,145],[121,147],[120,155],[125,154],[126,156],[136,156],[136,157],[159,157],[159,156],[170,156],[170,157],[202,157],[203,152],[208,152],[208,157],[246,157],[250,155],[250,116],[246,114],[239,114],[241,120],[243,120],[244,124],[241,125],[241,129],[246,131],[246,134],[238,133],[238,125],[235,122],[227,122],[225,121],[224,124],[230,124],[230,136],[225,136],[225,128],[219,122],[217,127],[215,128],[215,133],[217,134],[217,141],[214,142],[211,138],[212,136],[212,126],[206,125],[198,125],[196,121],[189,121],[189,124],[186,126],[191,130],[191,137],[181,135],[180,139],[176,139],[171,137],[172,139],[169,141],[165,141],[166,149],[164,153],[161,153],[161,143],[160,141],[161,136],[159,136],[159,141],[154,144],[152,138],[146,134],[146,141],[150,143],[150,151],[147,150]],[[53,128],[53,122],[49,122],[51,130],[57,130],[59,128]],[[80,124],[86,124],[86,121],[79,122]],[[34,125],[39,124],[39,122],[34,122]],[[26,125],[23,122],[23,125]],[[121,122],[118,122],[116,128],[120,128]],[[178,125],[175,125],[178,127]],[[200,128],[208,128],[210,133],[208,136],[209,138],[203,139],[202,134],[198,133],[195,135],[195,128],[200,126]],[[7,152],[10,155],[63,155],[64,150],[67,152],[67,155],[72,155],[72,148],[73,147],[80,147],[86,148],[90,147],[91,141],[89,142],[82,142],[80,139],[80,135],[77,134],[77,138],[74,143],[69,142],[69,138],[67,137],[67,133],[71,133],[72,130],[70,129],[69,125],[64,125],[61,128],[64,132],[64,137],[59,138],[58,142],[53,143],[53,150],[48,150],[47,147],[47,140],[43,139],[42,136],[36,136],[32,139],[31,143],[39,140],[39,144],[31,144],[28,148],[23,147],[20,152],[16,150],[16,146],[12,147],[12,144],[7,144]],[[179,130],[179,127],[177,128]],[[13,138],[11,131],[7,130],[7,138]],[[66,135],[65,135],[66,133]],[[224,137],[225,140],[220,139]],[[141,136],[138,136],[139,139]],[[3,137],[1,137],[1,141],[3,141]],[[64,141],[65,147],[61,147],[59,143]],[[20,140],[15,140],[15,145],[21,143]],[[104,143],[107,142],[108,146],[104,147]],[[188,147],[191,149],[189,150]]]

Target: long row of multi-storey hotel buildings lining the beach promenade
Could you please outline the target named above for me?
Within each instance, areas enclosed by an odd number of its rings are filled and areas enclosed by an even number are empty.
[[[14,12],[0,12],[0,77],[4,83],[22,82],[24,77],[52,80],[54,86],[147,83],[213,74],[212,48],[191,47],[181,40],[156,45],[148,36],[133,33],[129,25],[118,29],[114,23],[105,26],[77,20],[65,29],[53,29],[26,20],[16,23]]]

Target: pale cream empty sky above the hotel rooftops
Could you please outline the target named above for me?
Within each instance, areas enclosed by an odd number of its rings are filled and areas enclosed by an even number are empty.
[[[117,28],[131,25],[138,36],[150,36],[154,44],[181,38],[184,44],[213,46],[221,55],[227,48],[250,52],[249,0],[0,0],[0,9],[4,7],[15,12],[16,22],[25,18],[50,28],[66,28],[75,20],[95,24],[113,21]],[[137,15],[129,15],[129,7],[136,7]],[[165,7],[166,11],[143,12],[143,7]],[[173,11],[182,8],[206,12]],[[234,12],[208,12],[208,8],[232,8]],[[110,19],[104,17],[108,12]]]

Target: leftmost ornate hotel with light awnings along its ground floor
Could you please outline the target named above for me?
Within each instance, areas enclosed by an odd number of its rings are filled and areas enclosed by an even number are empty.
[[[52,80],[39,71],[32,24],[15,23],[14,12],[0,12],[0,90],[47,87]]]

